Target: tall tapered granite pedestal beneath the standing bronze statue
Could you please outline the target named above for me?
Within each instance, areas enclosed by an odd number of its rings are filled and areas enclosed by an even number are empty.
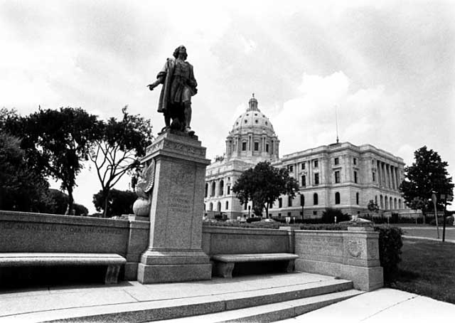
[[[141,283],[209,280],[211,265],[203,253],[202,218],[205,148],[196,137],[161,134],[143,162],[155,162],[151,192],[149,248],[141,255]]]

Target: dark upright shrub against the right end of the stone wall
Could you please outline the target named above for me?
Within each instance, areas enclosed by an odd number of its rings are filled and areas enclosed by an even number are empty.
[[[403,231],[392,226],[375,226],[375,231],[379,232],[379,258],[384,269],[384,282],[387,284],[395,281],[398,272]]]

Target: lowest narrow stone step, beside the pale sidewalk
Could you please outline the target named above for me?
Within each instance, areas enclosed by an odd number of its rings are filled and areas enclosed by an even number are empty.
[[[276,322],[305,314],[321,307],[347,300],[350,297],[363,294],[359,290],[344,290],[330,294],[305,297],[299,300],[277,302],[268,305],[234,309],[213,314],[167,319],[166,323],[218,323],[218,322]]]

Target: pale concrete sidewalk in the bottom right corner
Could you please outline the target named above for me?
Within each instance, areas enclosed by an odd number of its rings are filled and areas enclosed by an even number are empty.
[[[428,323],[439,322],[439,319],[453,322],[455,305],[410,292],[382,288],[279,322]]]

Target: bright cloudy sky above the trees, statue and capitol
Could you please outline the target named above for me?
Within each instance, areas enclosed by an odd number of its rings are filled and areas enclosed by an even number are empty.
[[[0,0],[0,107],[82,107],[164,127],[156,80],[184,45],[207,157],[255,93],[280,154],[373,144],[407,165],[426,145],[455,174],[455,1]],[[128,189],[125,178],[116,189]],[[58,186],[58,184],[53,184]],[[95,211],[90,164],[75,201]]]

